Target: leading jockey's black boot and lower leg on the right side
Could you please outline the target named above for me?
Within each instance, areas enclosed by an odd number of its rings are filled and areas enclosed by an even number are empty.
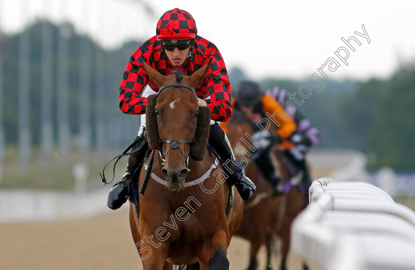
[[[239,162],[235,160],[231,144],[229,143],[226,134],[223,141],[213,147],[223,161],[222,166],[225,167],[225,173],[228,172],[230,174],[228,180],[231,184],[235,185],[242,199],[248,200],[253,193],[255,193],[256,187],[255,184],[245,176],[242,167],[237,165]]]

